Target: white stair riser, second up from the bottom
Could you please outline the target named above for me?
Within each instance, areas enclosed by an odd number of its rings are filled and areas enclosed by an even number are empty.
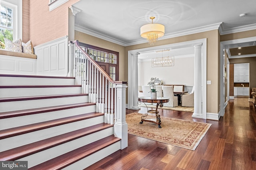
[[[70,141],[68,143],[64,143],[62,145],[58,145],[56,147],[43,150],[41,152],[37,152],[35,154],[32,154],[30,156],[26,156],[24,158],[18,159],[18,161],[26,160],[29,162],[28,168],[32,166],[36,166],[42,162],[45,162],[47,160],[50,160],[52,158],[55,158],[57,156],[60,156],[62,154],[65,154],[66,152],[70,152],[74,149],[78,149],[80,147],[83,147],[84,145],[88,145],[90,143],[93,143],[95,141],[98,141],[104,137],[108,137],[110,135],[113,135],[113,127],[110,127],[108,129],[104,129],[102,131],[98,131],[96,133],[92,133],[90,135],[87,135],[85,137],[78,138],[76,140]]]

